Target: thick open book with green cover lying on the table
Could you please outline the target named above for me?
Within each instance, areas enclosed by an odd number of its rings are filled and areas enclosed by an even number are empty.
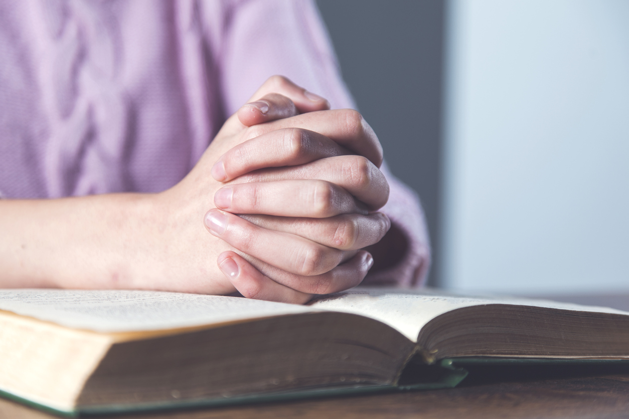
[[[629,312],[431,290],[0,290],[0,310],[1,393],[66,415],[454,386],[465,359],[629,359]]]

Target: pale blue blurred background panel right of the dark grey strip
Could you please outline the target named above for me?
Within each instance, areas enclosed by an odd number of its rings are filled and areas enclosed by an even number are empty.
[[[629,290],[629,1],[448,6],[442,283]]]

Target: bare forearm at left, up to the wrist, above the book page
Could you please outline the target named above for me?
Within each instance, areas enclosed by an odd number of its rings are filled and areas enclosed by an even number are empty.
[[[0,201],[0,286],[145,288],[154,197]]]

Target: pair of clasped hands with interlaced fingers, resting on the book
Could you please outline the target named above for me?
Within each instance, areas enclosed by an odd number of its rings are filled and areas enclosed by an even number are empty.
[[[358,285],[373,264],[363,248],[391,227],[376,212],[389,196],[381,164],[381,145],[358,112],[331,111],[325,99],[270,78],[164,192],[172,222],[163,230],[184,226],[199,245],[187,254],[198,269],[175,288],[304,303]]]

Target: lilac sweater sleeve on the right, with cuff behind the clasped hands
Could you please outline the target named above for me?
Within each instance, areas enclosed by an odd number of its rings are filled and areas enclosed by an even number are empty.
[[[221,29],[210,35],[220,67],[227,115],[236,112],[274,74],[284,75],[325,97],[333,109],[356,109],[313,1],[240,0],[223,3],[222,8],[225,17]],[[416,194],[393,177],[386,165],[382,171],[391,188],[382,212],[391,219],[392,228],[400,233],[404,246],[400,248],[398,263],[370,273],[364,283],[419,286],[430,266],[430,245],[421,204]]]

